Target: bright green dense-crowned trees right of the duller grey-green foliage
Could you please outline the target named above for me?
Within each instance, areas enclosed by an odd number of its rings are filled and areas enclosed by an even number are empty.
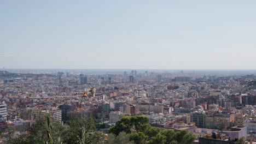
[[[135,134],[131,134],[132,129],[136,131]],[[118,135],[121,131],[131,134],[130,140],[136,144],[190,144],[194,143],[196,139],[194,135],[185,130],[174,132],[173,130],[161,130],[152,127],[148,118],[144,116],[123,117],[110,129],[110,133],[115,135]]]

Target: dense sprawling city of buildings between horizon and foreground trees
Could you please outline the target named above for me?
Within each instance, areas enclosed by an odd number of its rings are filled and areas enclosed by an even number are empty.
[[[2,134],[11,128],[17,135],[27,133],[37,119],[50,115],[53,122],[62,124],[93,117],[102,125],[98,131],[107,135],[125,116],[146,116],[152,127],[195,135],[194,143],[232,143],[241,137],[256,140],[254,74],[220,71],[202,75],[193,70],[93,73],[1,71]],[[5,140],[3,136],[1,142]]]

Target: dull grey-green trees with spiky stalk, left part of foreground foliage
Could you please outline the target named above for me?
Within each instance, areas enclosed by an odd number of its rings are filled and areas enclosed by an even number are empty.
[[[15,130],[11,130],[8,135],[10,144],[100,144],[104,137],[102,133],[95,131],[93,119],[76,119],[69,122],[69,125],[62,125],[60,122],[51,122],[50,117],[38,120],[27,134],[16,136]]]

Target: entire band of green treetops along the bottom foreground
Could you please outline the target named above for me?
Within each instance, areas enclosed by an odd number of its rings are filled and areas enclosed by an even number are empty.
[[[190,144],[195,136],[182,130],[161,130],[152,127],[149,119],[144,116],[123,117],[110,128],[110,134],[105,135],[96,130],[93,118],[75,119],[62,125],[51,122],[50,117],[39,118],[27,134],[19,135],[15,129],[10,129],[5,135],[8,143],[38,143],[38,144]]]

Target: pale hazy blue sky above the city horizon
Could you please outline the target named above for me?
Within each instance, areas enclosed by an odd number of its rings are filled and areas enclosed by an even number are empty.
[[[256,69],[256,1],[0,1],[0,67]]]

